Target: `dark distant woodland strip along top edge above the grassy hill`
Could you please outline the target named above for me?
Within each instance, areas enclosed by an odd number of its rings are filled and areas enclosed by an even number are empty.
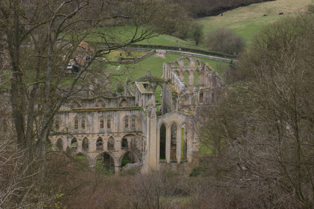
[[[194,18],[215,16],[221,12],[231,10],[251,3],[273,0],[172,0],[183,6]]]

